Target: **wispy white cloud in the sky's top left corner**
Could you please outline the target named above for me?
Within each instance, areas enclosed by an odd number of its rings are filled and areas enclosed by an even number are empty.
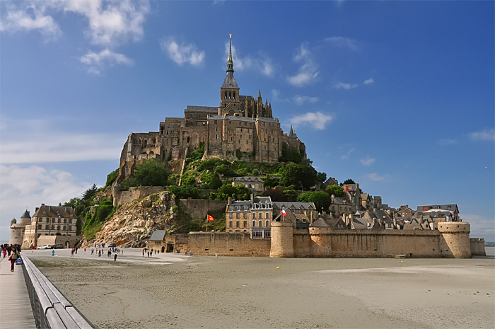
[[[45,15],[45,6],[30,4],[22,9],[7,8],[6,16],[0,21],[0,31],[38,30],[47,40],[57,39],[62,34],[59,25],[50,15]]]

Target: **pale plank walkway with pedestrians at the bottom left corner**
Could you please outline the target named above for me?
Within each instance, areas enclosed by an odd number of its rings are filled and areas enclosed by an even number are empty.
[[[36,328],[23,267],[14,265],[14,272],[11,272],[7,257],[0,258],[0,328]]]

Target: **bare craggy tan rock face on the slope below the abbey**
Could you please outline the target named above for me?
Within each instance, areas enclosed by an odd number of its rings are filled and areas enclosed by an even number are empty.
[[[93,240],[85,239],[81,246],[113,242],[122,247],[144,247],[153,231],[170,229],[173,226],[177,217],[174,206],[175,195],[166,191],[123,205],[111,219],[105,221]]]

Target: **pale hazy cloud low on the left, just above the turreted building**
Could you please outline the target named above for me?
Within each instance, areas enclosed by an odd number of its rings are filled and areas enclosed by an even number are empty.
[[[1,236],[8,239],[8,226],[13,217],[19,220],[26,207],[31,215],[41,202],[57,205],[90,187],[89,182],[78,182],[71,173],[49,170],[42,166],[0,165]]]

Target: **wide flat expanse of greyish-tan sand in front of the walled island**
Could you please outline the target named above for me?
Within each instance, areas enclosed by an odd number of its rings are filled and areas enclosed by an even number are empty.
[[[106,250],[105,250],[106,251]],[[495,259],[28,252],[96,328],[494,328]],[[403,261],[403,262],[402,262]],[[279,267],[277,269],[276,267]]]

